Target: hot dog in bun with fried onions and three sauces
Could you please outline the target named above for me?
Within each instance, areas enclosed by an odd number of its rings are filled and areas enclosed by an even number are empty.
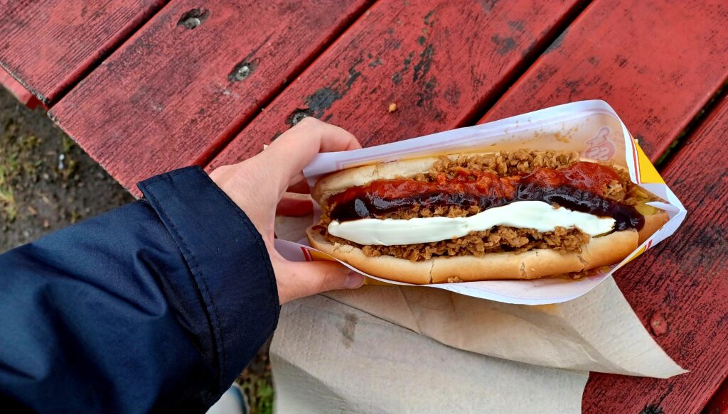
[[[385,279],[535,279],[617,263],[668,220],[612,163],[558,151],[453,154],[335,172],[309,242]]]

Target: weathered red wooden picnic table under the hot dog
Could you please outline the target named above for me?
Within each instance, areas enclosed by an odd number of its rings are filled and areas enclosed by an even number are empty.
[[[592,373],[583,410],[728,410],[725,0],[0,1],[0,65],[135,194],[304,116],[372,146],[606,100],[689,211],[615,279],[690,373]]]

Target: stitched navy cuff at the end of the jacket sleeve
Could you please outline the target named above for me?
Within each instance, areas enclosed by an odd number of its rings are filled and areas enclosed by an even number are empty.
[[[226,389],[275,330],[278,290],[268,251],[245,212],[199,167],[138,183],[184,256],[211,327]],[[189,283],[188,281],[184,281]]]

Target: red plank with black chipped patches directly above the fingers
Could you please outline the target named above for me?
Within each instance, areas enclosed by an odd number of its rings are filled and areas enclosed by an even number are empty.
[[[212,167],[258,153],[306,114],[346,128],[364,145],[472,122],[581,3],[379,1]]]

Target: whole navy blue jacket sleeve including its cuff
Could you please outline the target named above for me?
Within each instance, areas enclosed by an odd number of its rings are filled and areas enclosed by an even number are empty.
[[[204,412],[272,334],[277,286],[245,213],[197,167],[139,188],[0,255],[0,406]]]

